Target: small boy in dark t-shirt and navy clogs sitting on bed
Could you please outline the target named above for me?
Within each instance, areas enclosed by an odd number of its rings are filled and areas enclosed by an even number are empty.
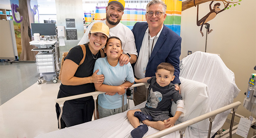
[[[174,80],[174,67],[169,63],[161,63],[157,66],[155,77],[146,77],[136,83],[150,83],[149,96],[144,108],[129,110],[127,117],[134,126],[131,135],[133,138],[142,138],[148,131],[148,126],[163,130],[174,126],[176,120],[184,113],[184,102],[180,93],[171,83]],[[174,117],[169,117],[171,99],[177,103],[177,111]],[[142,121],[144,124],[140,125]]]

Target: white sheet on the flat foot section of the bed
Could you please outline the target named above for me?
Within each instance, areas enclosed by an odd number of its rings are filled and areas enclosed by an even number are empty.
[[[132,109],[142,108],[144,106],[145,102]],[[49,132],[36,138],[132,138],[130,132],[134,128],[130,124],[126,113],[127,111],[69,128]],[[149,126],[149,131],[144,136],[151,135],[158,131],[159,130]],[[166,137],[176,138],[179,136],[177,131]]]

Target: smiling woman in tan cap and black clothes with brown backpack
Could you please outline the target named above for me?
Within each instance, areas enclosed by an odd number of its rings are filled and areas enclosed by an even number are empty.
[[[93,24],[89,33],[89,42],[70,49],[64,58],[61,71],[61,85],[57,98],[95,92],[94,83],[102,83],[104,75],[93,72],[96,59],[104,57],[102,48],[109,37],[109,28],[98,22]],[[102,54],[101,54],[102,52]],[[61,128],[73,126],[92,120],[94,100],[92,96],[66,101],[61,116]],[[56,103],[57,118],[60,107]],[[64,122],[63,122],[64,121]]]

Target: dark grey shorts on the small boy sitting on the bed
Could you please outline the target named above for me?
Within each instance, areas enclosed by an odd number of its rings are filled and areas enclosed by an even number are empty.
[[[150,115],[153,121],[164,121],[170,118],[169,111],[151,111],[147,108],[141,108],[140,110],[143,114]]]

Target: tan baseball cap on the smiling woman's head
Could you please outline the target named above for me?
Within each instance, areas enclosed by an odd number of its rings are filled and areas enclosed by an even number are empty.
[[[93,24],[90,33],[92,34],[96,32],[101,32],[102,34],[105,34],[107,37],[109,37],[109,27],[102,22],[96,22]]]

